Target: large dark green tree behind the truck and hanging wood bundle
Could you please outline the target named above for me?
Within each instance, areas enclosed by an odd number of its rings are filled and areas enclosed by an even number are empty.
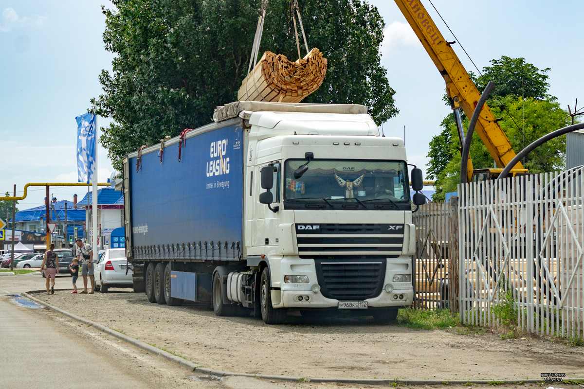
[[[384,22],[361,0],[300,0],[310,47],[328,58],[322,86],[306,103],[359,103],[376,122],[398,113],[380,65]],[[237,100],[245,78],[260,0],[113,0],[103,40],[113,72],[99,76],[92,103],[112,117],[100,138],[116,169],[121,158],[184,128],[211,121]],[[289,1],[270,1],[260,52],[296,59]]]

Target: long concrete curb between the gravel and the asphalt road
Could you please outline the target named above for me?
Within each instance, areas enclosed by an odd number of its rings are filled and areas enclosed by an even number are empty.
[[[59,289],[59,290],[68,290],[68,289]],[[192,372],[203,373],[203,374],[210,374],[211,376],[217,377],[230,377],[230,376],[238,376],[238,377],[254,377],[254,378],[261,378],[266,380],[280,380],[280,381],[302,381],[302,382],[314,382],[314,383],[325,383],[325,382],[332,382],[332,383],[342,383],[342,384],[361,384],[361,385],[387,385],[387,386],[395,386],[396,384],[401,385],[467,385],[467,384],[548,384],[545,383],[543,380],[383,380],[383,379],[335,379],[335,378],[308,378],[308,377],[288,377],[288,376],[270,376],[267,374],[248,374],[248,373],[233,373],[233,372],[223,372],[222,370],[213,370],[208,369],[207,367],[201,367],[196,363],[190,362],[190,360],[186,360],[180,358],[176,355],[172,355],[171,353],[159,349],[157,347],[151,346],[147,343],[139,341],[138,339],[130,338],[127,335],[122,334],[121,332],[112,330],[111,328],[105,327],[105,325],[95,323],[94,321],[87,320],[81,316],[74,315],[69,313],[65,310],[55,307],[47,302],[37,299],[36,297],[31,296],[29,293],[42,293],[45,290],[30,290],[30,292],[24,292],[23,295],[27,298],[33,300],[35,303],[40,304],[48,309],[54,310],[64,316],[70,317],[73,320],[77,320],[80,323],[87,324],[93,328],[96,328],[106,334],[112,335],[115,338],[121,339],[131,345],[134,345],[138,348],[141,348],[144,351],[151,352],[154,355],[162,356],[172,362],[178,363],[182,367],[186,367]],[[584,378],[578,379],[564,379],[564,381],[584,381]],[[551,383],[550,383],[551,384]]]

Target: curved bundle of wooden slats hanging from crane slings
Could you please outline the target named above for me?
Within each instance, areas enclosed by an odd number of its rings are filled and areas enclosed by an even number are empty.
[[[286,55],[266,51],[241,83],[237,99],[298,103],[321,86],[326,62],[318,48],[294,62]]]

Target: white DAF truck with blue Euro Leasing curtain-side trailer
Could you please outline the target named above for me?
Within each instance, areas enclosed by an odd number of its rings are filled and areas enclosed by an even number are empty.
[[[354,104],[239,101],[214,121],[124,159],[135,290],[152,303],[210,302],[218,316],[249,310],[268,324],[290,309],[387,322],[412,303],[401,139],[379,136]]]

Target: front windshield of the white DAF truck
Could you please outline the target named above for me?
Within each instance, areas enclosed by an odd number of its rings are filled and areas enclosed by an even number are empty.
[[[294,172],[306,159],[284,165],[287,209],[410,209],[408,170],[404,161],[313,159],[300,177]]]

